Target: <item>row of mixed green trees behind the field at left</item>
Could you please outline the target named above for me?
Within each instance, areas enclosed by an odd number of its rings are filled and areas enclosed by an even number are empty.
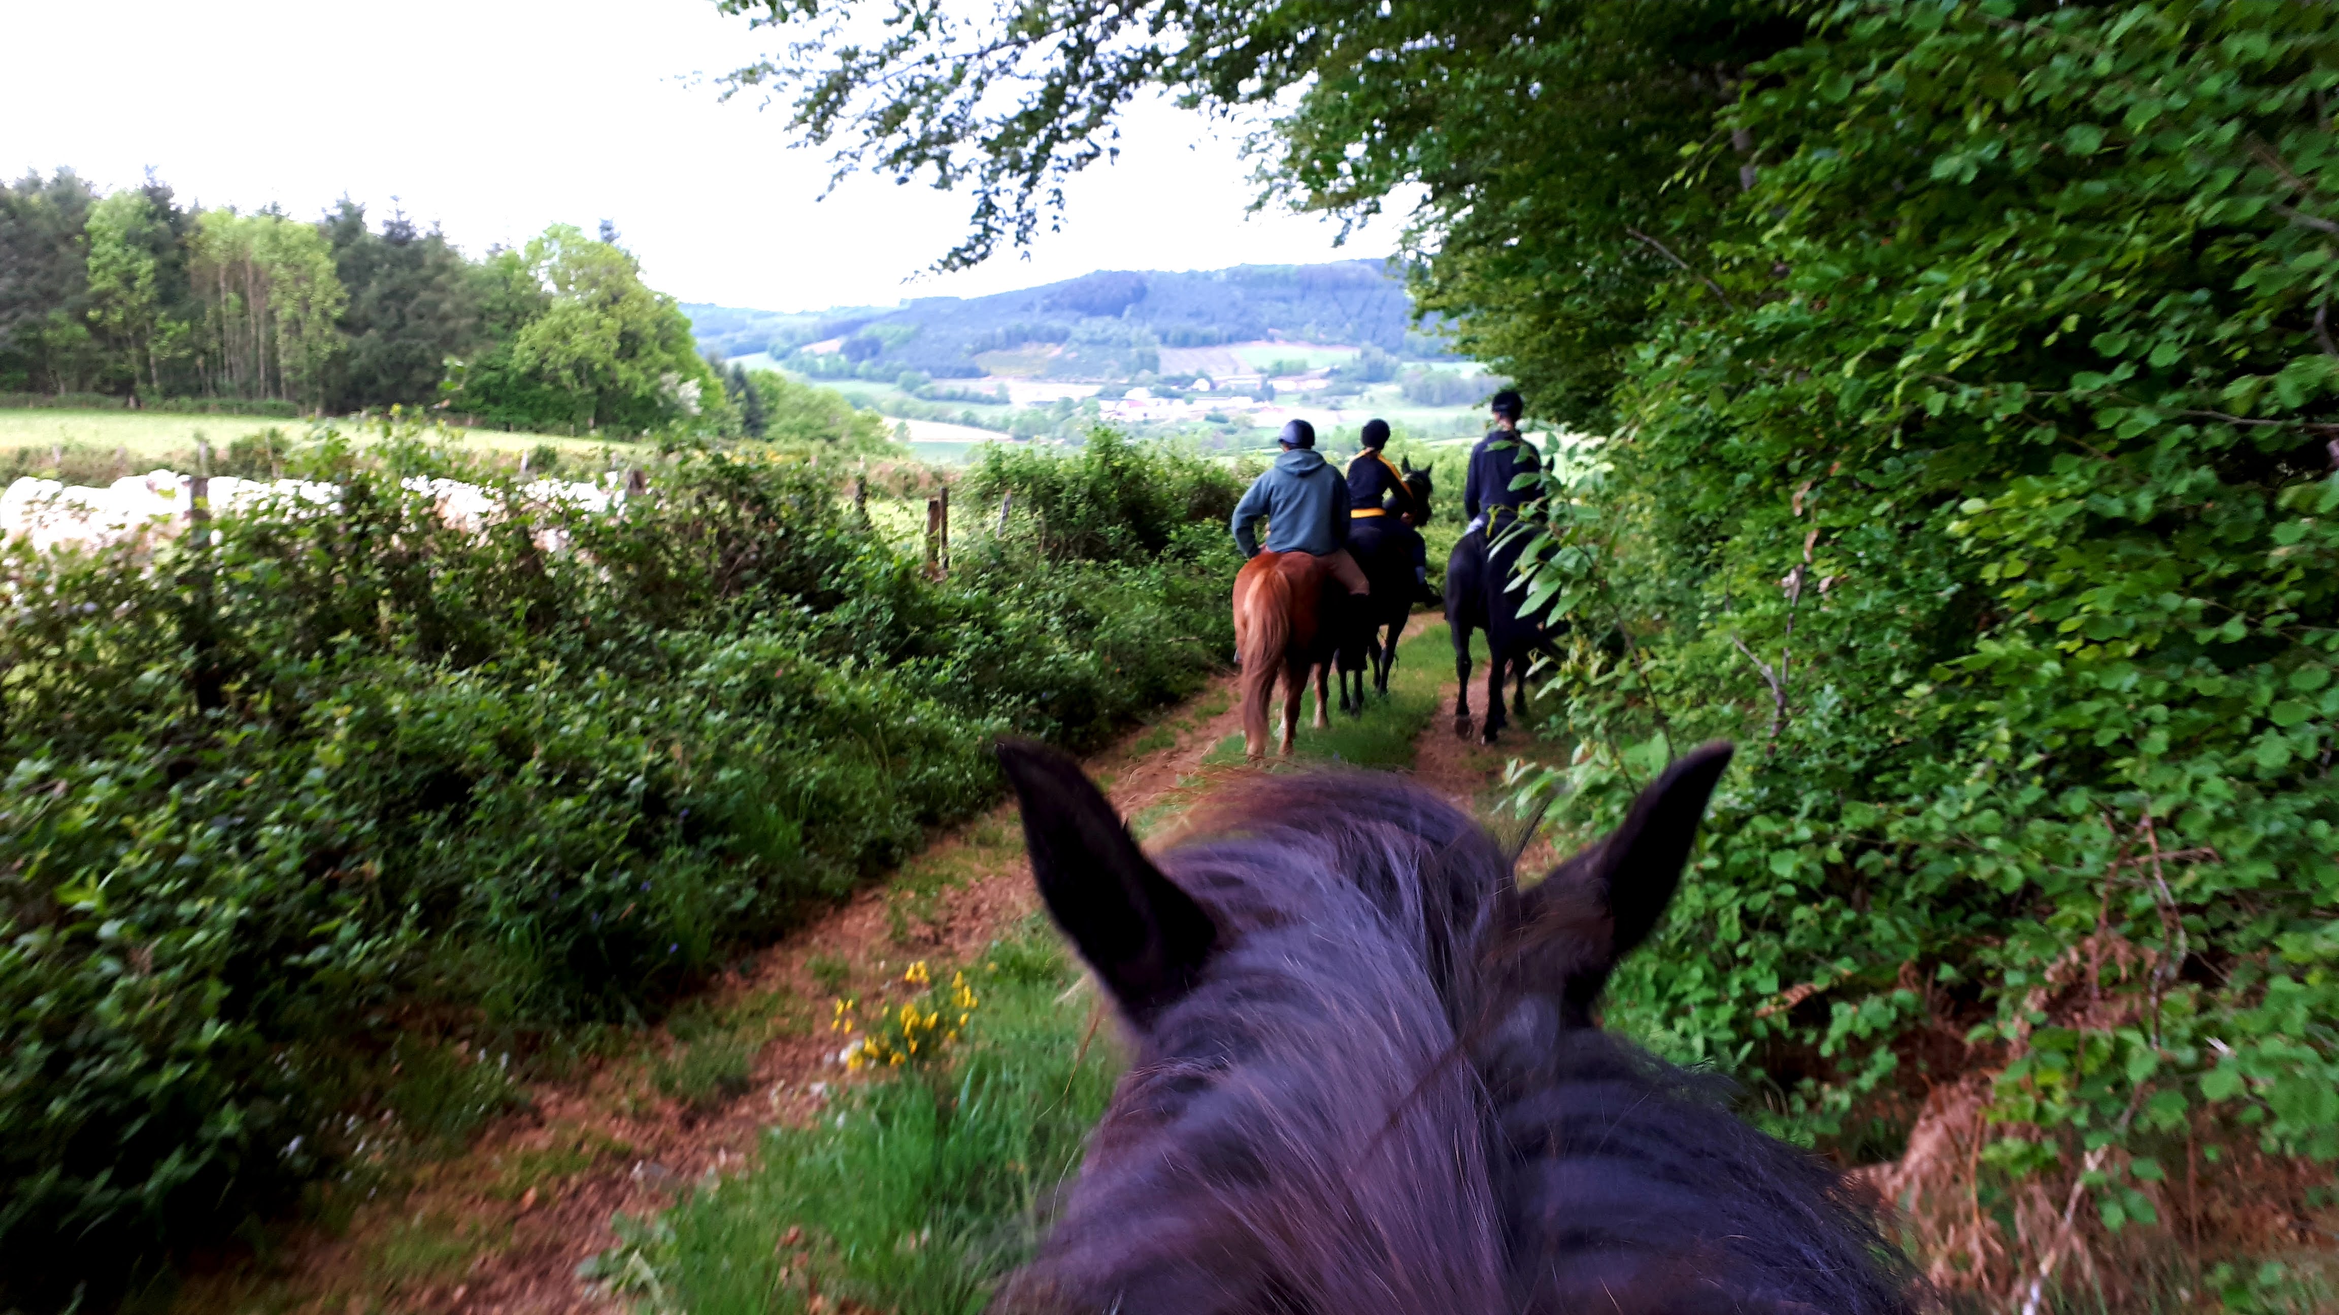
[[[344,199],[325,218],[187,208],[73,171],[0,185],[0,393],[610,433],[737,426],[674,297],[603,225],[465,257]],[[94,398],[94,400],[96,400]]]

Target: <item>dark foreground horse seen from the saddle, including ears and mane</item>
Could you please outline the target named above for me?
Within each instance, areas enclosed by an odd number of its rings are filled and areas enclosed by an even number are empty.
[[[1380,774],[1249,777],[1148,859],[1006,744],[1048,910],[1134,1055],[1031,1266],[1048,1315],[1904,1315],[1829,1165],[1598,1030],[1689,859],[1710,746],[1537,884]]]

